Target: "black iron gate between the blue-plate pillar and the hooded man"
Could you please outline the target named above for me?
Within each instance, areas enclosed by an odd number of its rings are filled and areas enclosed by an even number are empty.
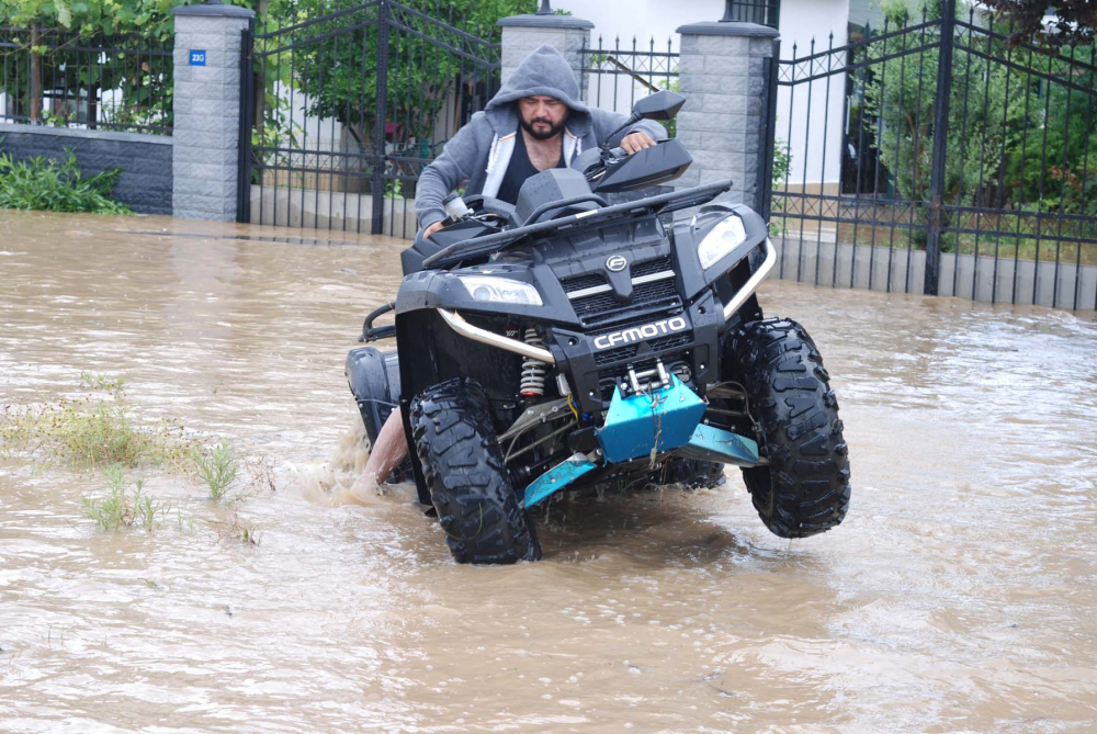
[[[452,13],[373,0],[247,33],[238,219],[414,237],[419,173],[499,87],[497,29]]]

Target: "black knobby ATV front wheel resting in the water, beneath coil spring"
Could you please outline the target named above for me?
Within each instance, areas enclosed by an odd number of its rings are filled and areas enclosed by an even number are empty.
[[[411,400],[411,433],[431,501],[457,563],[541,558],[479,383],[449,380],[423,391]]]

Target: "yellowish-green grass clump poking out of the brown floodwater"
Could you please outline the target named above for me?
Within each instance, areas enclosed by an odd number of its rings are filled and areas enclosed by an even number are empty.
[[[92,395],[0,414],[0,458],[27,455],[77,466],[183,466],[193,441],[171,421],[144,421],[123,377],[82,375]]]

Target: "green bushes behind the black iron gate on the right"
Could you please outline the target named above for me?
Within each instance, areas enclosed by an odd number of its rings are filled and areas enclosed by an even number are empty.
[[[895,0],[883,3],[889,22],[898,26],[915,20],[915,11]],[[940,16],[940,1],[921,5],[921,18]],[[1008,26],[977,18],[969,9],[958,15],[976,25],[989,25],[1005,35]],[[920,19],[919,19],[920,20]],[[1071,55],[1089,63],[1093,47],[1055,52],[1011,48],[988,34],[957,31],[949,114],[945,190],[948,202],[968,206],[999,206],[1025,211],[1097,215],[1097,128],[1094,97],[1065,84],[1048,83],[1031,69],[1093,86]],[[900,34],[873,44],[871,54],[891,57],[875,63],[873,72],[857,79],[863,86],[868,128],[875,139],[881,165],[902,200],[926,201],[937,109],[936,48],[938,29]],[[1008,59],[988,60],[975,52]],[[1031,47],[1030,47],[1031,48]],[[902,52],[909,52],[903,55]],[[1092,151],[1087,156],[1086,149]]]

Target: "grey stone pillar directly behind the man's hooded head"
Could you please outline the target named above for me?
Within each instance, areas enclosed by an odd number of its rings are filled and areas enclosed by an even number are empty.
[[[570,15],[556,15],[542,0],[541,9],[527,15],[511,15],[499,21],[502,27],[502,81],[506,82],[518,65],[543,43],[567,59],[575,69],[580,93],[585,91],[583,58],[579,49],[590,45],[590,29],[595,24]]]

